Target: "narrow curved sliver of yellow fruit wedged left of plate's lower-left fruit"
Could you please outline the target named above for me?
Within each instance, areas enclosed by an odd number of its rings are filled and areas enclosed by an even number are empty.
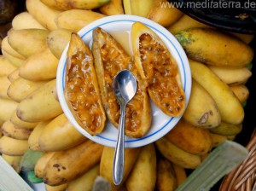
[[[41,121],[38,123],[38,125],[32,130],[31,135],[28,138],[28,145],[29,148],[35,151],[41,151],[39,147],[39,136],[41,135],[42,131],[44,130],[44,127],[49,124],[48,121]]]

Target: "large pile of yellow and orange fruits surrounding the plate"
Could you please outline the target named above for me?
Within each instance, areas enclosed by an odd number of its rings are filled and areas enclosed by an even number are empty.
[[[167,5],[167,6],[166,6]],[[168,6],[169,5],[169,6]],[[241,132],[249,96],[253,35],[206,26],[164,0],[26,0],[0,55],[0,153],[46,190],[175,190],[208,153]],[[189,57],[193,84],[183,118],[166,136],[125,149],[124,181],[113,185],[114,148],[91,142],[61,110],[56,68],[72,32],[112,14],[137,14],[165,26]],[[37,182],[37,181],[35,181]]]

